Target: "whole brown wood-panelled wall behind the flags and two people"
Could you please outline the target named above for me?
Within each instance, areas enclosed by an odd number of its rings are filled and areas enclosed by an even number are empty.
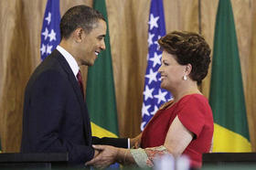
[[[93,0],[61,0],[61,15],[73,5],[92,5]],[[191,0],[164,0],[166,32],[199,31],[199,4]],[[219,0],[201,0],[201,31],[213,46]],[[240,63],[255,149],[256,111],[256,12],[253,0],[231,0],[236,22]],[[42,18],[47,0],[0,1],[0,133],[4,151],[18,151],[21,137],[24,88],[40,63]],[[106,0],[112,47],[119,129],[121,136],[140,133],[144,73],[147,55],[148,0]],[[84,81],[87,67],[82,67]],[[211,68],[210,68],[211,69]],[[202,92],[208,97],[210,69]]]

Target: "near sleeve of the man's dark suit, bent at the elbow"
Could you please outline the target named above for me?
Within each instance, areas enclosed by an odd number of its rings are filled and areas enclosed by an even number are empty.
[[[58,71],[48,70],[37,77],[30,86],[29,106],[24,119],[24,129],[29,141],[29,152],[69,153],[71,163],[85,163],[94,155],[91,145],[72,143],[59,138],[59,129],[65,123],[65,103],[69,98],[68,80]]]

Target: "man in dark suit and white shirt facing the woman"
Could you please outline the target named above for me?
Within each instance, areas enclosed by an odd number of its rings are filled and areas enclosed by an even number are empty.
[[[69,153],[84,164],[99,154],[94,143],[127,147],[127,139],[91,137],[91,123],[80,86],[80,66],[92,66],[105,49],[103,16],[86,5],[70,8],[60,21],[61,41],[27,83],[22,153]]]

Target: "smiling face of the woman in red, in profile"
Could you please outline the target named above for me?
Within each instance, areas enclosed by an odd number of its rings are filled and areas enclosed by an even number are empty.
[[[161,88],[172,90],[180,85],[185,75],[186,66],[180,65],[176,61],[176,56],[169,54],[165,50],[162,55],[162,65],[158,69],[161,74]]]

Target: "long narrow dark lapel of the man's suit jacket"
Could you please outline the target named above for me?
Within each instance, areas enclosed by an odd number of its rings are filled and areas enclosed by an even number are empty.
[[[91,121],[90,121],[89,113],[87,111],[86,103],[83,100],[83,96],[80,91],[79,83],[76,80],[71,68],[69,67],[69,63],[67,62],[67,60],[59,53],[58,50],[55,50],[55,51],[57,51],[55,56],[58,58],[59,63],[62,66],[62,68],[67,72],[68,77],[69,77],[69,82],[71,83],[73,90],[75,91],[76,96],[80,102],[80,108],[82,111],[81,114],[82,114],[82,118],[84,121],[84,129],[85,129],[85,132],[87,133],[87,135],[86,135],[87,141],[91,145]]]

